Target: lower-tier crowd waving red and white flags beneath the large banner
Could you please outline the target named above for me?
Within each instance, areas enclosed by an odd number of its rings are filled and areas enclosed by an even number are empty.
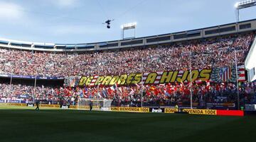
[[[139,107],[141,102],[145,106],[174,106],[190,104],[191,89],[193,103],[196,106],[206,106],[206,103],[236,103],[237,88],[233,83],[212,83],[206,85],[174,83],[161,85],[119,86],[116,89],[103,86],[93,88],[65,88],[36,86],[34,93],[32,85],[0,84],[0,100],[20,100],[33,102],[40,100],[46,104],[76,105],[80,98],[109,99],[114,106]],[[239,88],[240,103],[256,103],[256,82],[242,83]]]

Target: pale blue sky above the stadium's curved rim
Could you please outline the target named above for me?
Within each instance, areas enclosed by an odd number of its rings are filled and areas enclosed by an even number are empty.
[[[239,0],[238,0],[239,1]],[[235,22],[236,0],[0,0],[0,37],[49,43],[121,39],[120,25],[137,22],[137,37]],[[240,20],[256,18],[256,6]],[[110,29],[102,23],[114,18]]]

